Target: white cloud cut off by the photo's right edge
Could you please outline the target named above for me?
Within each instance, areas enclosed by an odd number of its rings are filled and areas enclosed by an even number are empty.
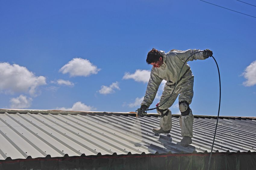
[[[244,86],[253,86],[256,84],[256,60],[245,68],[242,75],[245,77],[245,79],[247,79],[245,82],[243,82]]]

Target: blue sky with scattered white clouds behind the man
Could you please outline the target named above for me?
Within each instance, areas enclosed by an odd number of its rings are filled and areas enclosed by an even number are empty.
[[[256,7],[239,1],[207,2],[256,17]],[[211,49],[220,115],[255,116],[255,23],[199,0],[0,1],[0,108],[135,111],[154,47]],[[188,64],[193,114],[217,115],[214,60]],[[179,113],[177,101],[170,109]]]

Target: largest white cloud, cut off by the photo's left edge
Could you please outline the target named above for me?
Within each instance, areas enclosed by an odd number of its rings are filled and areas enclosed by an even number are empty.
[[[0,91],[6,93],[28,92],[36,96],[36,88],[46,84],[46,78],[36,77],[26,67],[17,64],[0,63]]]

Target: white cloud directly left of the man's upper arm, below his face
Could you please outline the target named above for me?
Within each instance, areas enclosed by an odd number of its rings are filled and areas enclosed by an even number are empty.
[[[137,82],[143,82],[143,83],[147,83],[148,80],[150,78],[150,71],[149,70],[136,70],[135,73],[130,74],[125,73],[123,79],[133,79]]]

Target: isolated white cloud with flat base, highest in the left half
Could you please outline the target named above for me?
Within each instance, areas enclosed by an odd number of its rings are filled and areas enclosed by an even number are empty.
[[[100,69],[90,63],[89,60],[83,58],[73,58],[68,64],[64,65],[60,70],[63,74],[69,73],[71,77],[97,74]]]

